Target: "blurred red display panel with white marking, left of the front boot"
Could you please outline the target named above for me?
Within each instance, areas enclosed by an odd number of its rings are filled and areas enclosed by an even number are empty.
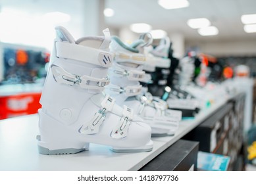
[[[41,93],[0,96],[0,120],[37,113],[38,109],[41,108],[40,97]]]

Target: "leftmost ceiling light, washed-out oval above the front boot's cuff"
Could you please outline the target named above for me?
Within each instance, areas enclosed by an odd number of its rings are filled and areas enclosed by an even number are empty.
[[[59,24],[61,22],[68,22],[70,20],[70,15],[64,12],[47,12],[43,15],[46,21]]]

